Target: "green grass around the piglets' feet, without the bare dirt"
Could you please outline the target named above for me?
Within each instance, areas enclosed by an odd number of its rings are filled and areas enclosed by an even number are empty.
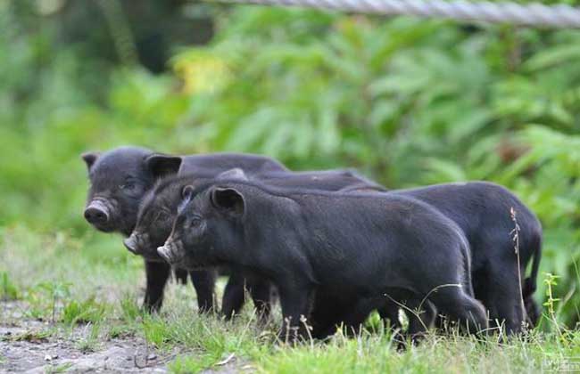
[[[172,357],[168,368],[175,373],[228,365],[277,373],[532,373],[572,365],[580,358],[580,332],[566,329],[532,331],[502,343],[495,337],[478,341],[429,334],[419,346],[400,352],[376,318],[369,323],[372,333],[347,338],[337,332],[327,343],[285,346],[275,342],[279,309],[263,328],[256,325],[252,308],[225,322],[217,315],[197,314],[193,288],[175,284],[168,288],[162,313],[144,314],[137,301],[144,285],[140,260],[126,254],[114,236],[79,239],[17,227],[4,231],[0,258],[5,260],[0,280],[21,295],[19,302],[34,306],[29,317],[71,333],[75,326],[87,329],[76,343],[79,351],[98,351],[112,337],[145,338],[149,346]],[[543,321],[549,329],[553,323]],[[51,331],[29,331],[12,339],[42,340]]]

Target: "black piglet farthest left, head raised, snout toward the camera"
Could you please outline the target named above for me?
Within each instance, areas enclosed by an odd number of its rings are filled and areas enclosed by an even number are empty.
[[[87,164],[91,186],[84,215],[87,221],[103,232],[120,232],[128,236],[137,221],[137,210],[146,191],[156,180],[182,169],[218,168],[228,170],[252,164],[260,170],[286,170],[277,161],[261,156],[216,153],[199,156],[167,156],[137,147],[121,147],[104,153],[82,155]],[[182,162],[183,161],[183,162]],[[163,289],[170,276],[170,265],[145,260],[146,290],[144,307],[158,310]],[[186,275],[186,274],[185,274]],[[190,272],[201,311],[213,305],[214,272]],[[180,278],[184,278],[181,272]]]

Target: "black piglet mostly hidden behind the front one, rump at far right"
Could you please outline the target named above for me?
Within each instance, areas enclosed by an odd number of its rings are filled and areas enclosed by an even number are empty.
[[[516,196],[498,184],[486,182],[437,184],[388,193],[424,201],[460,226],[471,248],[475,296],[489,310],[494,325],[497,321],[504,324],[507,332],[518,332],[525,314],[532,326],[537,324],[539,308],[533,293],[542,252],[542,225]],[[519,226],[519,268],[512,240],[515,223],[511,208]],[[531,275],[520,285],[518,272],[524,274],[532,258]],[[522,310],[520,288],[526,312]],[[398,327],[398,305],[379,299],[361,300],[358,308],[347,307],[355,304],[354,300],[341,304],[327,296],[319,297],[312,316],[313,321],[319,322],[319,329],[313,335],[332,334],[341,322],[356,327],[374,308]]]

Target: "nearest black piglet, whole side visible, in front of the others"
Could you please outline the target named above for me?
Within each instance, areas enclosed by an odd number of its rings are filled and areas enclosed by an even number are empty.
[[[234,264],[272,280],[283,337],[303,336],[316,294],[428,299],[471,331],[487,326],[472,297],[466,238],[417,199],[238,181],[186,186],[183,197],[159,254],[188,269]]]

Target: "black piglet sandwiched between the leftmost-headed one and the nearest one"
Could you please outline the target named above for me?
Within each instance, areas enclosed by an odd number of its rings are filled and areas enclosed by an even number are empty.
[[[139,210],[137,225],[126,245],[137,255],[150,261],[159,261],[157,248],[167,240],[171,225],[177,215],[178,204],[181,201],[181,191],[188,184],[199,185],[212,180],[214,173],[198,169],[196,173],[165,178],[158,183],[143,200]],[[231,169],[216,177],[216,179],[236,178],[261,180],[274,186],[309,187],[325,191],[339,191],[354,188],[383,191],[377,183],[372,183],[350,170],[328,170],[311,172],[263,172],[253,175],[245,173],[240,168]],[[244,284],[249,290],[258,315],[266,317],[269,314],[270,283],[249,272],[230,271],[230,278],[224,291],[222,313],[227,317],[238,313],[244,305]]]

